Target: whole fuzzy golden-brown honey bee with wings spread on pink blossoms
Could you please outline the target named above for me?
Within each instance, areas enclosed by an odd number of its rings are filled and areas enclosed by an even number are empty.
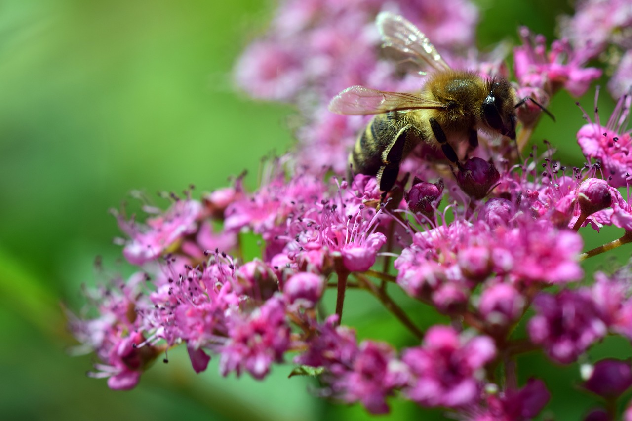
[[[377,114],[349,154],[355,173],[377,175],[386,195],[397,180],[402,160],[422,141],[441,148],[458,166],[456,150],[463,149],[459,146],[464,143],[468,152],[476,148],[477,129],[516,138],[516,107],[526,99],[518,102],[506,78],[483,79],[472,71],[450,68],[430,40],[402,16],[382,12],[376,23],[382,46],[431,72],[418,94],[355,85],[331,100],[329,110],[334,113]]]

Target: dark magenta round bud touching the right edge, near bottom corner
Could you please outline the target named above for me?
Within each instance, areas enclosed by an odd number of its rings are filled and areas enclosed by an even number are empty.
[[[583,386],[604,398],[617,398],[632,386],[630,362],[606,358],[595,363]]]

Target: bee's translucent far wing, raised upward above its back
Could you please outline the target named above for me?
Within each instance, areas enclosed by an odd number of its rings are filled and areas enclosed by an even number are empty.
[[[418,73],[430,69],[450,69],[428,37],[402,16],[382,12],[377,15],[375,23],[382,36],[382,47],[394,49],[401,56],[400,61],[413,64]]]

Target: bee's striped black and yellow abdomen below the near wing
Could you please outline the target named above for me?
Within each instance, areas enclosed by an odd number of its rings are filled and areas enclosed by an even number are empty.
[[[382,152],[391,144],[398,130],[396,113],[377,114],[362,132],[349,154],[353,173],[375,175],[382,166]]]

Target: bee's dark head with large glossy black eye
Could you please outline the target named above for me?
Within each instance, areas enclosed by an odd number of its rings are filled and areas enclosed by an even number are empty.
[[[481,109],[483,123],[511,139],[516,138],[514,98],[514,90],[506,79],[492,80]]]

